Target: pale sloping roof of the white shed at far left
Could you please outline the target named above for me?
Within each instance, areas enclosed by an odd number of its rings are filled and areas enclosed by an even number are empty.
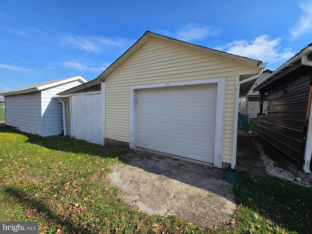
[[[8,96],[8,95],[16,95],[16,94],[26,94],[26,93],[31,93],[31,92],[36,92],[36,91],[48,89],[48,88],[58,86],[61,84],[65,84],[65,83],[75,81],[75,80],[80,80],[83,83],[87,82],[87,80],[81,76],[65,78],[65,79],[56,79],[56,80],[50,80],[50,81],[45,81],[45,82],[41,82],[38,84],[25,86],[25,87],[22,87],[19,89],[14,89],[14,90],[7,91],[7,92],[1,92],[0,95]]]

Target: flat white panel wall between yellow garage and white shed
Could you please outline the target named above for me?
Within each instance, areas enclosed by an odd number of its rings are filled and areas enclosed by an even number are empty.
[[[71,97],[71,137],[101,144],[101,95]]]

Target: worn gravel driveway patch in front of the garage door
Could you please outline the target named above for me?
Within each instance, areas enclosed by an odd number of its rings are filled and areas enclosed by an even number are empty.
[[[122,198],[150,215],[177,215],[203,227],[229,223],[236,204],[225,171],[137,151],[127,163],[114,164],[106,183]]]

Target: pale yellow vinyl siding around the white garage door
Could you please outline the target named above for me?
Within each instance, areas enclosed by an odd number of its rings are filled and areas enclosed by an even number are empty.
[[[257,66],[151,38],[105,78],[105,138],[129,142],[130,86],[226,78],[223,160],[231,162],[235,83]]]

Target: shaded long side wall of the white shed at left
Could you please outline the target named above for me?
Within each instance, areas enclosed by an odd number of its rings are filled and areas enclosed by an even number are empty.
[[[40,92],[5,97],[5,124],[41,135]]]

